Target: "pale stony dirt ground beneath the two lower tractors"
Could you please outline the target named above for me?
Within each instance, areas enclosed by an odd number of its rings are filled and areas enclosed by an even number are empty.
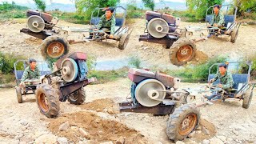
[[[201,86],[202,84],[198,85]],[[182,87],[197,87],[198,85],[183,83]],[[115,142],[120,137],[126,137],[127,143],[173,143],[166,136],[168,116],[118,114],[115,111],[117,102],[126,101],[126,96],[130,93],[128,78],[106,84],[86,86],[85,89],[86,103],[82,106],[74,106],[70,105],[69,102],[62,102],[60,115],[56,119],[49,119],[40,114],[34,95],[27,96],[28,99],[25,102],[18,104],[14,89],[1,89],[0,143],[51,143],[57,141],[60,143],[100,143]],[[98,102],[94,102],[94,100],[98,100]],[[242,102],[237,100],[217,102],[211,106],[201,107],[202,118],[214,124],[217,134],[213,138],[208,138],[209,140],[198,136],[188,138],[183,142],[256,142],[254,131],[256,129],[255,104],[256,98],[254,97],[248,110],[243,109]],[[109,108],[114,112],[110,113]],[[66,121],[71,126],[68,132],[58,131],[59,126]],[[78,134],[78,127],[86,129],[88,122],[101,124],[91,127],[88,131],[91,134],[90,140],[76,135]],[[112,134],[112,137],[106,137],[106,134],[110,134],[113,130],[116,130],[115,134]]]

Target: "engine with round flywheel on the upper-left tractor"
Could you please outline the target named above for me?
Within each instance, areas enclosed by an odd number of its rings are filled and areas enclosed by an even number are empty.
[[[37,10],[27,10],[26,16],[28,17],[27,27],[34,33],[39,33],[45,29],[52,30],[58,23],[58,18]]]

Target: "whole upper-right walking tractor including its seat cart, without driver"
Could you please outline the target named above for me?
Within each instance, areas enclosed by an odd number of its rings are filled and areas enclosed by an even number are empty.
[[[159,43],[166,48],[170,48],[170,61],[176,66],[182,66],[190,62],[196,54],[196,43],[206,40],[206,35],[201,31],[207,30],[209,35],[229,35],[230,42],[236,42],[238,29],[241,23],[235,21],[237,7],[233,5],[223,5],[221,12],[224,14],[224,26],[209,26],[214,17],[214,6],[210,6],[206,11],[206,26],[186,26],[180,28],[180,18],[174,18],[171,14],[146,11],[145,34],[140,35],[139,41]],[[200,32],[198,39],[191,37],[195,32]]]

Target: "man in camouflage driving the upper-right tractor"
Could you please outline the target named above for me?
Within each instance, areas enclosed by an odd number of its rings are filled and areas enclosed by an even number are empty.
[[[210,21],[210,26],[208,27],[218,27],[218,33],[220,34],[220,30],[224,27],[225,21],[224,21],[224,15],[222,12],[220,12],[219,5],[214,5],[214,16]],[[208,35],[208,38],[210,38],[212,34]]]

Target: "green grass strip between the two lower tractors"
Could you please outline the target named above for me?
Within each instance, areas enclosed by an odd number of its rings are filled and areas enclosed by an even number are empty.
[[[90,70],[89,74],[87,74],[88,78],[97,78],[97,82],[93,82],[93,84],[102,84],[106,82],[113,82],[118,78],[126,78],[128,74],[128,68],[124,67],[119,70]]]

